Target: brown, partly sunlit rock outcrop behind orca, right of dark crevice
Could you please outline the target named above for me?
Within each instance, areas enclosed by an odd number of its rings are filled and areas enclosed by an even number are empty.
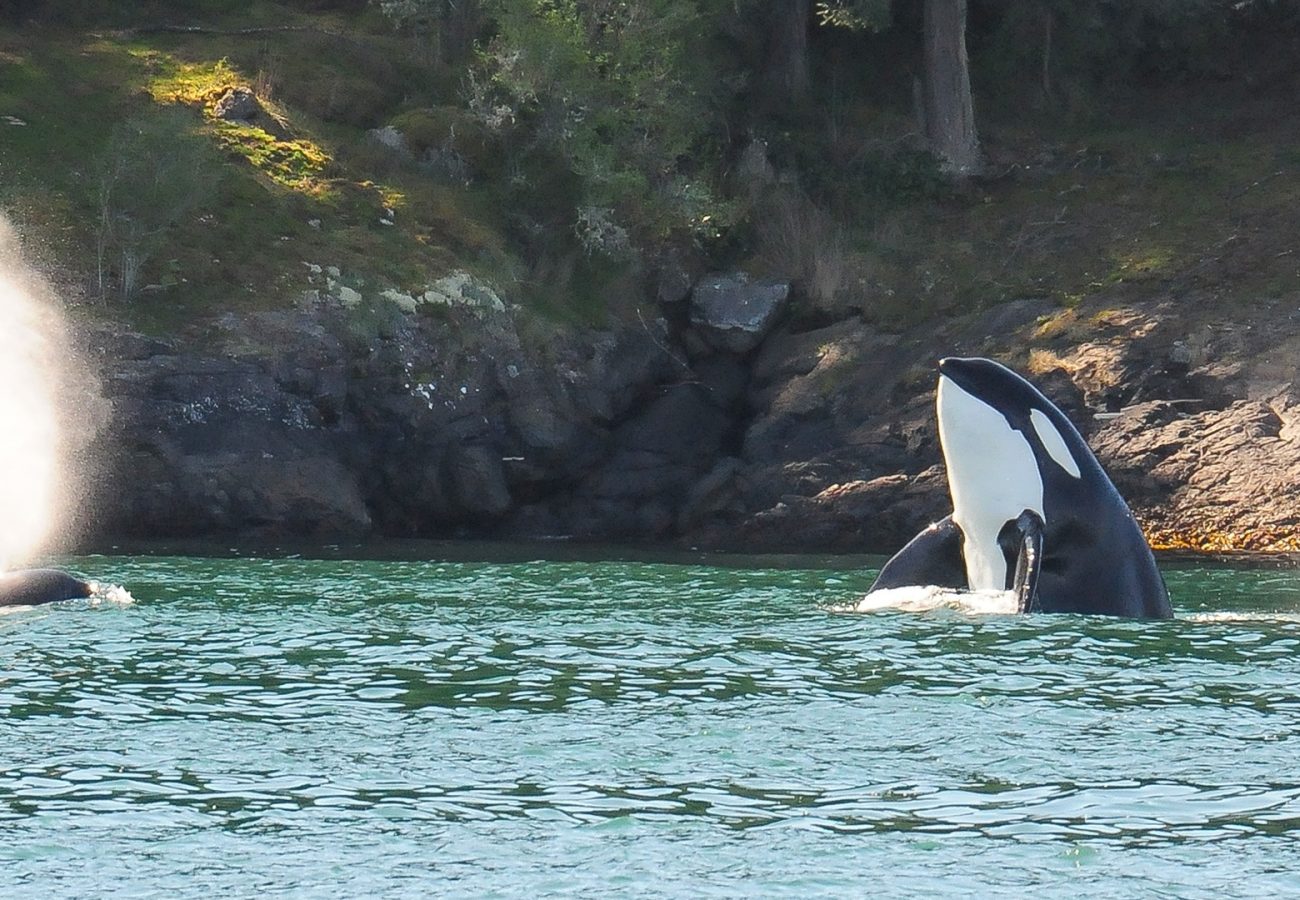
[[[890,551],[945,515],[933,386],[937,358],[953,354],[1027,372],[1092,441],[1157,546],[1300,549],[1300,324],[1226,328],[1114,299],[1010,303],[937,334],[857,320],[774,332],[750,365],[731,473],[742,512],[694,542]]]

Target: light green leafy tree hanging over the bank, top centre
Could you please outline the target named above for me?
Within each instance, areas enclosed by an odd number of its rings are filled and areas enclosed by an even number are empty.
[[[681,0],[497,0],[481,55],[493,109],[581,178],[581,205],[642,230],[707,228],[699,176],[707,79],[698,7]]]

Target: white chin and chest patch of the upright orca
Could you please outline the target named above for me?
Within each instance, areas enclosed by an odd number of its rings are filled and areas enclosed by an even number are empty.
[[[1005,590],[1006,557],[997,541],[1002,525],[1026,510],[1046,520],[1037,459],[1002,412],[946,376],[939,378],[936,406],[967,587]]]

